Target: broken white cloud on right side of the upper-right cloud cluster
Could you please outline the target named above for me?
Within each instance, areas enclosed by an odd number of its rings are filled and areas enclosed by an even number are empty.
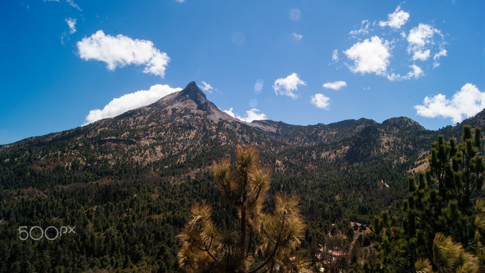
[[[427,60],[430,56],[429,45],[433,45],[435,34],[443,35],[433,26],[420,23],[419,26],[411,29],[407,35],[407,53],[413,54],[413,60]],[[444,49],[442,49],[444,50]],[[439,53],[438,53],[439,54]],[[446,51],[445,51],[446,54]]]

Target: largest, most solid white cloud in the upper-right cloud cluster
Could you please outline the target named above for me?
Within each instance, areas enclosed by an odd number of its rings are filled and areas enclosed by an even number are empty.
[[[378,36],[370,40],[354,44],[350,49],[343,51],[347,58],[354,61],[354,66],[349,67],[354,73],[375,73],[379,76],[387,75],[389,57],[391,57],[390,42]]]

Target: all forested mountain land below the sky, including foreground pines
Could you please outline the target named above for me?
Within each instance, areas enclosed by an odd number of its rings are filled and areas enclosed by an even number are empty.
[[[197,92],[1,145],[0,272],[485,272],[484,111],[249,124]]]

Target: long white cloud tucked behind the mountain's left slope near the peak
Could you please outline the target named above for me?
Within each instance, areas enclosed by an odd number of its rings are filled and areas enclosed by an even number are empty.
[[[95,109],[89,111],[86,116],[86,122],[83,125],[89,124],[99,119],[113,118],[128,110],[136,109],[141,106],[156,102],[162,97],[180,91],[182,88],[171,88],[168,85],[153,85],[149,90],[140,90],[134,93],[123,95],[119,98],[113,99],[103,110]]]

